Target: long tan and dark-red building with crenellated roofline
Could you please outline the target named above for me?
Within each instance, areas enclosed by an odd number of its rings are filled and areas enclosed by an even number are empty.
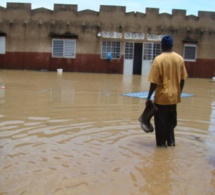
[[[77,8],[0,7],[0,68],[147,75],[161,52],[162,36],[171,34],[189,77],[215,76],[215,12],[187,16],[175,9],[167,14],[153,8],[127,13],[124,6],[101,5],[99,12]]]

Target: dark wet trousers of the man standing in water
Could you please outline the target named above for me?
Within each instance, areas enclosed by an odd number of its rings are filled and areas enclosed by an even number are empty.
[[[158,105],[154,115],[157,146],[175,146],[174,128],[177,125],[177,105]]]

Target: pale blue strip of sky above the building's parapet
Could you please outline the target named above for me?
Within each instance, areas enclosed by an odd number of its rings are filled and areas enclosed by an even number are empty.
[[[126,12],[145,13],[147,7],[159,8],[160,13],[172,13],[172,9],[186,10],[187,15],[198,15],[198,11],[215,12],[215,0],[1,0],[0,6],[7,2],[31,3],[31,8],[44,7],[53,10],[54,4],[75,4],[78,11],[90,9],[99,11],[100,5],[126,6]]]

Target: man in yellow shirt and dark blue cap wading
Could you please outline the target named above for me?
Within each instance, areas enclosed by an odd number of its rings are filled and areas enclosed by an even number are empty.
[[[177,104],[181,102],[184,80],[188,76],[183,58],[172,51],[173,38],[165,35],[161,40],[162,53],[158,55],[149,73],[149,94],[146,105],[155,91],[154,115],[156,144],[175,146],[174,128],[177,125]]]

